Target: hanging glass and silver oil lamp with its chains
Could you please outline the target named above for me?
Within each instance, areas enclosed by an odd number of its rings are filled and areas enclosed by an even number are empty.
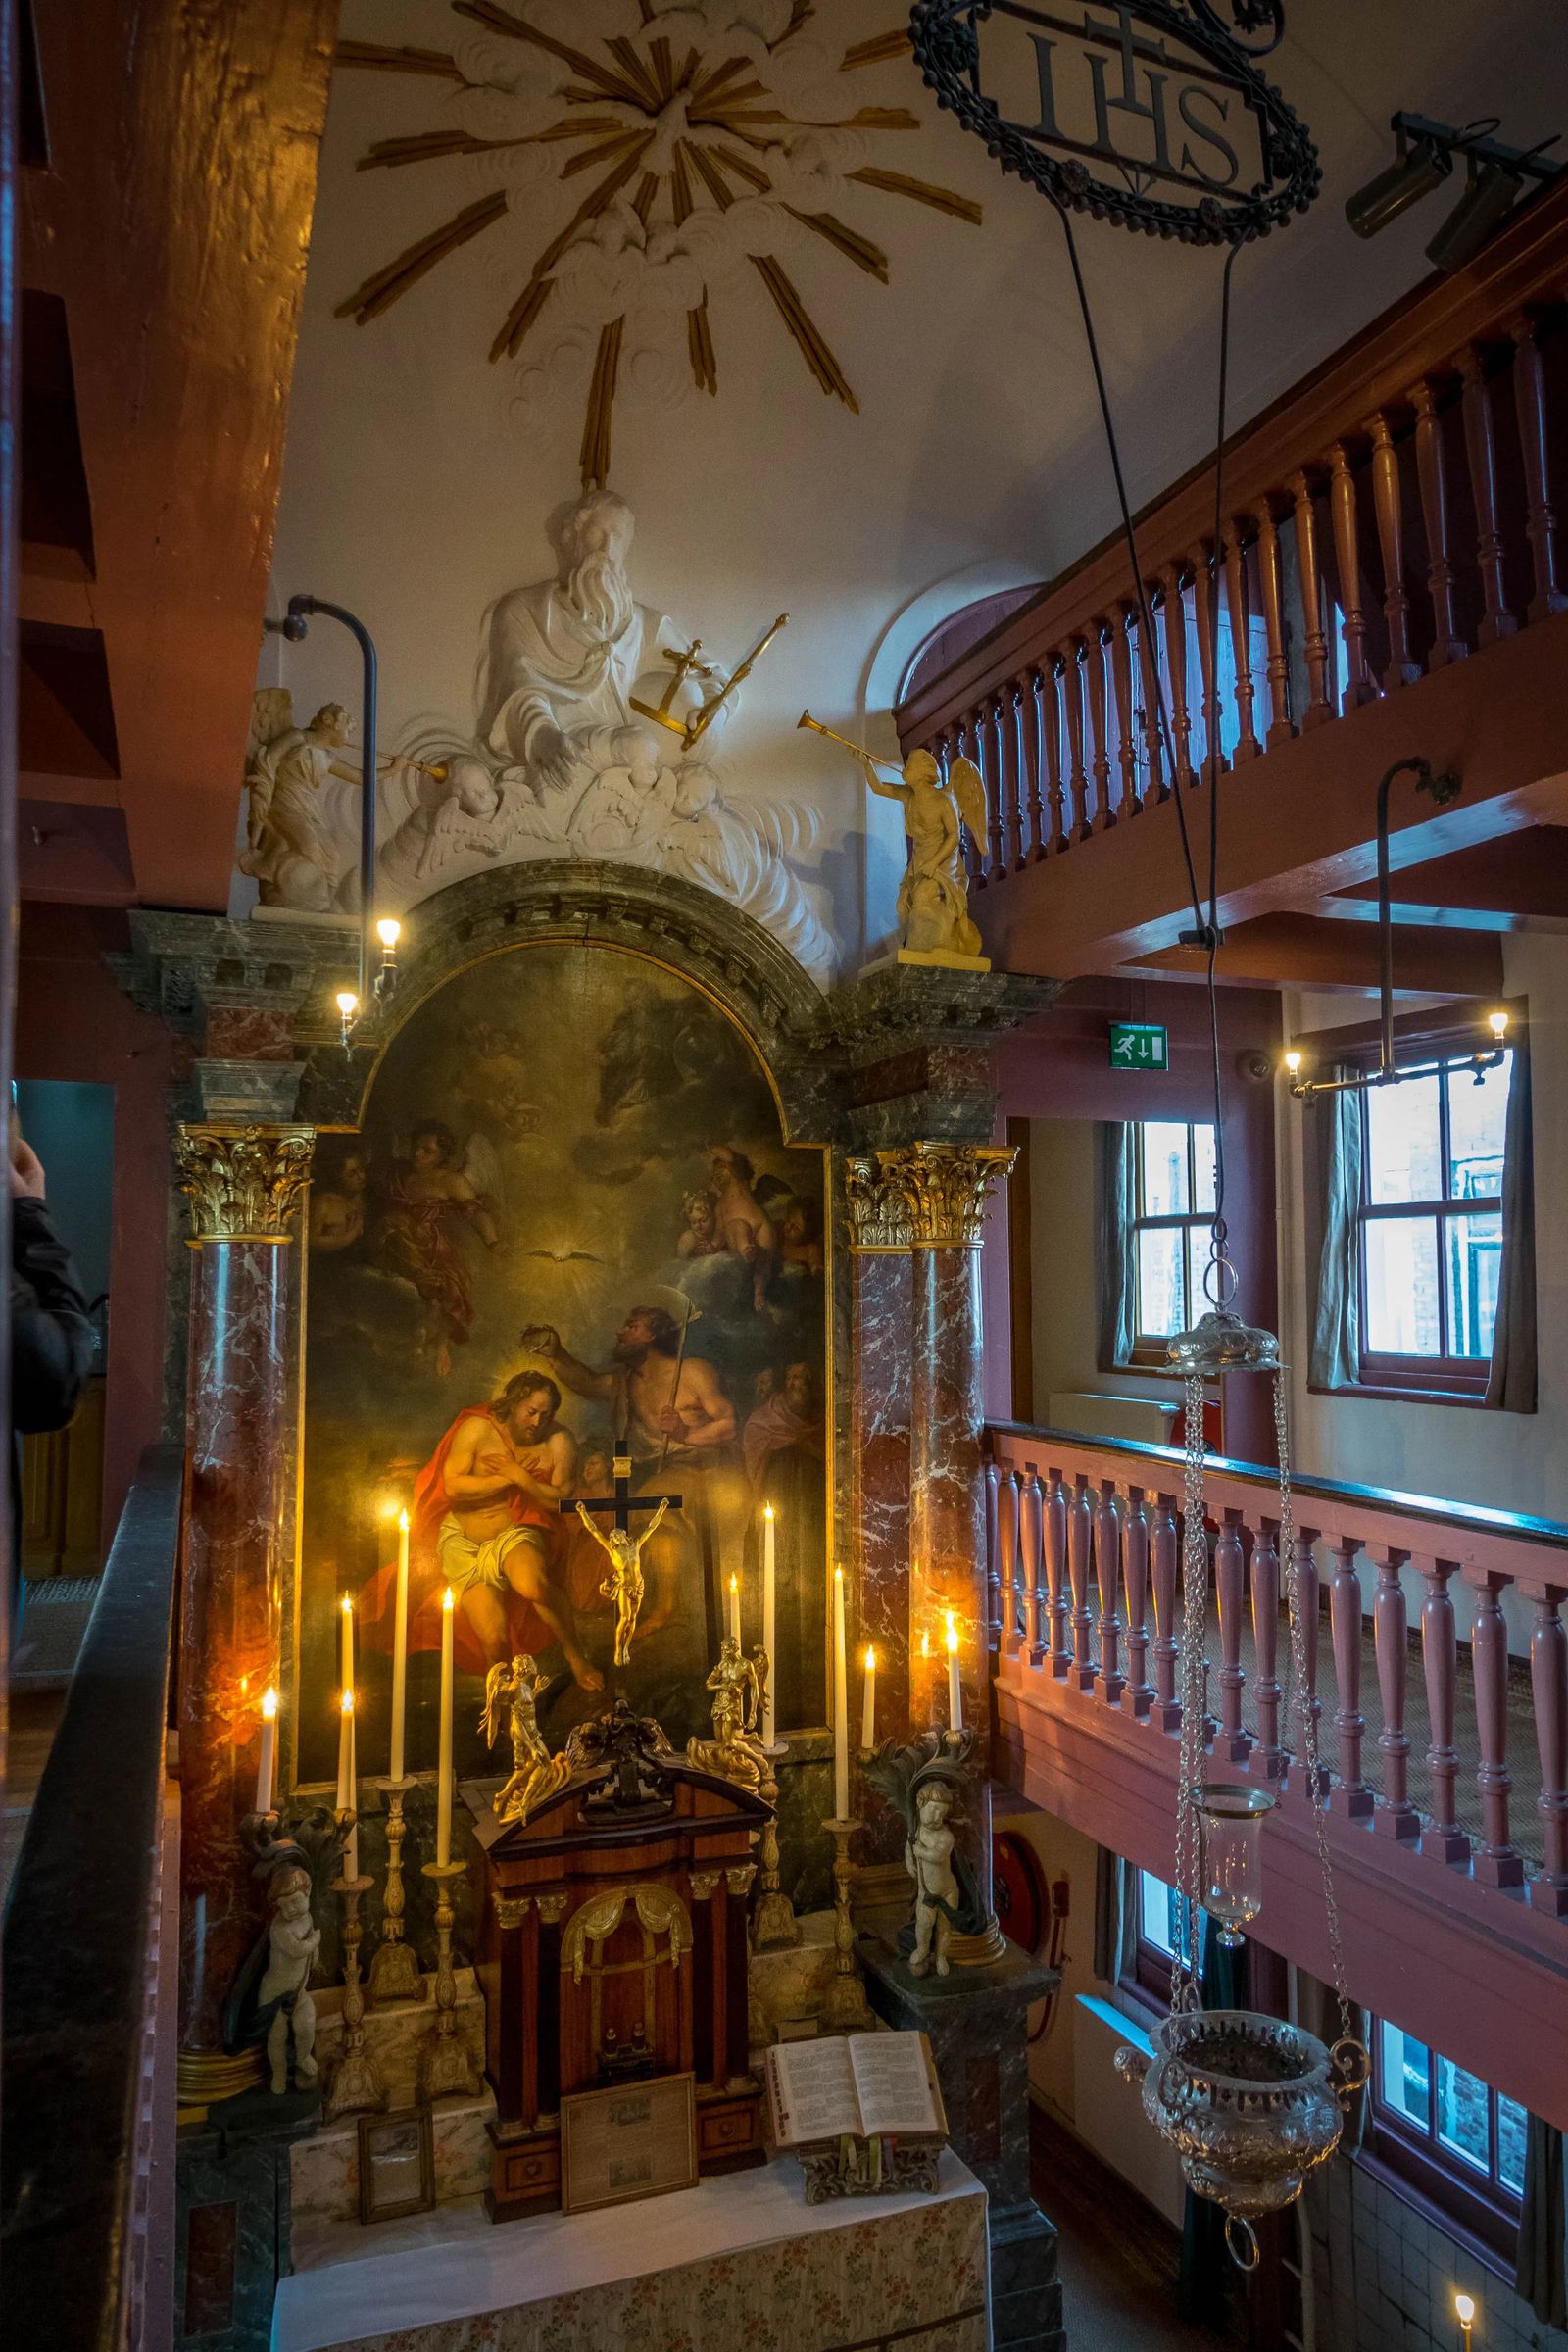
[[[1307,1639],[1302,1623],[1295,1526],[1291,1508],[1291,1449],[1286,1425],[1286,1367],[1272,1331],[1244,1324],[1229,1312],[1237,1277],[1225,1254],[1225,1225],[1215,1216],[1213,1254],[1204,1287],[1215,1305],[1192,1331],[1171,1341],[1171,1364],[1185,1374],[1185,1529],[1182,1529],[1182,1630],[1180,1693],[1182,1736],[1175,1809],[1175,1889],[1182,1898],[1182,1950],[1171,1966],[1171,2013],[1154,2032],[1154,2049],[1117,2051],[1117,2072],[1143,2084],[1150,2124],[1180,2157],[1182,2178],[1199,2197],[1225,2211],[1225,2244],[1241,2270],[1258,2265],[1260,2213],[1293,2204],[1307,2173],[1340,2145],[1345,2107],[1368,2074],[1368,2053],[1354,2032],[1345,1990],[1340,1915],[1326,1832],[1326,1783],[1319,1766],[1316,1717],[1305,1705]],[[1246,1783],[1215,1785],[1206,1778],[1206,1616],[1208,1534],[1204,1512],[1204,1383],[1222,1371],[1258,1371],[1274,1378],[1274,1435],[1279,1439],[1279,1550],[1291,1611],[1291,1682],[1300,1724],[1298,1764],[1316,1825],[1316,1853],[1328,1912],[1333,1987],[1340,2004],[1340,2039],[1328,2049],[1300,2025],[1251,2009],[1204,2009],[1199,1992],[1199,1933],[1208,1912],[1222,1945],[1239,1945],[1241,1929],[1258,1917],[1262,1820],[1274,1806],[1269,1790]]]

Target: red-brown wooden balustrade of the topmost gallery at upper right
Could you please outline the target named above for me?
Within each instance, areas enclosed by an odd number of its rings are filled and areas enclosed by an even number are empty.
[[[1117,534],[940,673],[905,753],[987,783],[971,882],[1001,884],[1182,790],[1561,612],[1549,426],[1568,426],[1568,188],[1436,278],[1138,520],[1154,642]],[[1218,602],[1218,640],[1215,640]],[[1218,659],[1215,656],[1218,644]]]

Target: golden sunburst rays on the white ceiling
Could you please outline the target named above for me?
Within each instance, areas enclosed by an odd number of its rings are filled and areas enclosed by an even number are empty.
[[[522,9],[505,7],[503,0],[451,0],[456,16],[482,26],[503,42],[517,42],[536,54],[555,59],[562,80],[552,89],[559,108],[555,120],[541,129],[520,132],[505,139],[487,139],[468,129],[430,129],[404,139],[378,139],[360,158],[362,172],[400,169],[409,165],[447,162],[454,158],[505,158],[522,148],[562,148],[555,167],[557,183],[569,188],[585,181],[585,193],[571,219],[529,263],[501,327],[489,346],[489,358],[517,358],[538,320],[550,308],[557,292],[557,268],[569,247],[590,235],[604,235],[604,216],[611,207],[628,207],[630,238],[651,238],[658,230],[679,230],[693,212],[710,205],[729,212],[736,202],[752,202],[759,212],[771,207],[773,219],[806,230],[816,242],[851,261],[867,278],[889,285],[889,256],[837,212],[799,202],[799,174],[795,169],[795,141],[811,141],[820,134],[884,136],[917,132],[919,115],[905,106],[856,106],[832,120],[797,115],[766,82],[766,64],[757,52],[748,56],[703,56],[689,42],[672,40],[654,31],[661,9],[656,0],[637,0],[639,26],[635,35],[618,33],[592,45],[567,42],[534,24]],[[792,0],[788,31],[769,49],[778,56],[788,42],[811,24],[818,0]],[[886,31],[872,40],[853,42],[839,59],[839,73],[858,73],[867,66],[893,64],[910,54],[910,35],[903,28]],[[440,49],[388,47],[369,40],[341,40],[336,59],[343,66],[362,66],[376,73],[428,75],[458,87],[473,87],[456,54]],[[980,223],[980,205],[943,188],[936,181],[886,172],[877,165],[837,172],[825,167],[830,181],[839,186],[872,188],[879,195],[905,198],[929,205],[954,221]],[[339,318],[367,325],[381,318],[393,303],[418,285],[449,254],[473,238],[494,228],[496,221],[517,214],[510,207],[505,186],[463,205],[440,221],[383,268],[374,270],[346,301]],[[614,219],[614,216],[611,216]],[[750,221],[748,221],[750,226]],[[759,223],[766,233],[766,216]],[[611,238],[618,235],[618,228]],[[778,228],[773,230],[778,235]],[[788,242],[788,240],[785,240]],[[611,245],[614,249],[614,245]],[[799,287],[790,278],[778,252],[745,252],[745,261],[764,285],[773,310],[785,325],[790,341],[806,362],[820,390],[858,414],[858,400],[832,346],[811,318]],[[691,381],[701,393],[717,395],[719,367],[715,353],[712,287],[703,282],[701,296],[686,310],[686,360]],[[599,325],[592,374],[588,383],[588,407],[583,416],[581,470],[583,487],[609,477],[611,423],[616,393],[623,379],[623,360],[630,360],[625,341],[628,310]]]

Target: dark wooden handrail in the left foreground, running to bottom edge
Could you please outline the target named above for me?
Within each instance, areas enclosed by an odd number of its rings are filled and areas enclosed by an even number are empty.
[[[179,1446],[141,1456],[5,1910],[0,2310],[16,2347],[120,2345],[181,1472]]]

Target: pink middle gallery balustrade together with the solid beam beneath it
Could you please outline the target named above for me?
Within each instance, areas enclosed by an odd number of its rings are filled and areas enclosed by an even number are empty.
[[[992,1425],[997,1771],[1173,1875],[1182,1463]],[[1568,1526],[1298,1477],[1352,1994],[1568,2126]],[[1206,1475],[1211,1778],[1272,1788],[1258,1936],[1328,1973],[1276,1475]]]

